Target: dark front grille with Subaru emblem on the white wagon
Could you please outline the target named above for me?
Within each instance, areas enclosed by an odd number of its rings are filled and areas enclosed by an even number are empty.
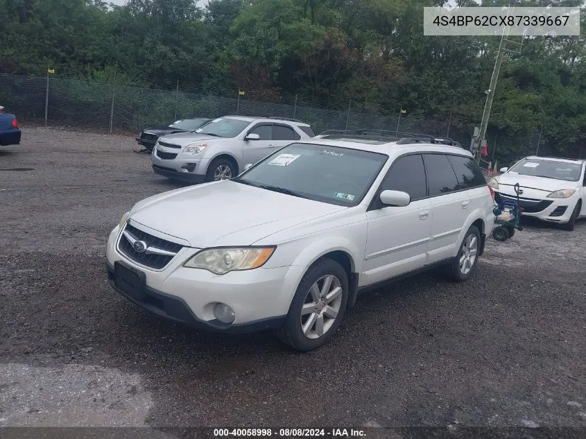
[[[178,243],[157,238],[157,236],[143,232],[142,230],[139,230],[137,227],[133,227],[130,224],[127,224],[126,227],[124,227],[124,231],[128,232],[132,238],[136,239],[137,241],[144,241],[147,247],[155,247],[157,249],[166,250],[167,252],[173,253],[178,253],[179,250],[183,248],[183,246]],[[171,259],[173,259],[173,256],[171,255],[157,255],[155,253],[137,252],[124,234],[120,236],[118,250],[120,250],[120,252],[122,252],[123,255],[128,257],[128,259],[131,261],[135,261],[138,264],[146,267],[154,268],[155,270],[164,268],[164,266],[169,264]]]

